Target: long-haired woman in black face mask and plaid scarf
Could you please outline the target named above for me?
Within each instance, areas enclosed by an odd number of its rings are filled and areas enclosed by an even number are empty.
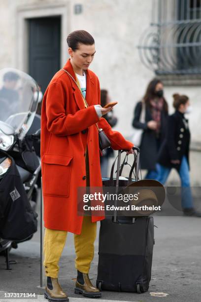
[[[134,109],[132,125],[136,129],[143,129],[139,145],[140,165],[141,169],[148,170],[146,179],[156,179],[158,175],[157,155],[165,137],[168,116],[168,106],[163,89],[164,86],[160,79],[152,79],[142,101],[138,102]],[[144,115],[143,121],[142,115]]]

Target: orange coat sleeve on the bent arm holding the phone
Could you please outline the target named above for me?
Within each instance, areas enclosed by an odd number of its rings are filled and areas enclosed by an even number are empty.
[[[95,107],[66,114],[67,91],[60,83],[50,84],[46,97],[47,129],[58,136],[78,133],[99,121]]]

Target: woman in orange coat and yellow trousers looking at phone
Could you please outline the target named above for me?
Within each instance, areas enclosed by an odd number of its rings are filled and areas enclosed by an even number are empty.
[[[96,222],[104,219],[104,216],[83,217],[77,214],[77,188],[102,186],[96,123],[108,136],[112,149],[124,149],[133,153],[133,144],[119,132],[112,131],[101,117],[111,107],[104,109],[100,106],[99,79],[88,70],[96,52],[94,38],[85,31],[75,31],[67,37],[67,44],[70,59],[64,70],[57,72],[50,81],[41,111],[42,187],[46,228],[45,298],[49,301],[68,301],[67,294],[58,283],[58,263],[67,231],[74,233],[77,268],[75,293],[91,298],[101,295],[91,284],[88,272],[94,256]]]

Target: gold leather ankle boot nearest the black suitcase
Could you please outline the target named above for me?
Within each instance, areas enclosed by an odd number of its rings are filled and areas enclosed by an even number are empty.
[[[75,294],[82,294],[84,297],[88,298],[100,298],[101,293],[98,288],[93,286],[89,279],[89,275],[82,273],[84,284],[80,284],[77,280],[75,282]]]

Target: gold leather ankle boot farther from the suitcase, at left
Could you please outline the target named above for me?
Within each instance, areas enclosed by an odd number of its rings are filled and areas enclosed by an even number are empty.
[[[69,301],[67,294],[63,292],[58,278],[47,277],[47,286],[44,293],[45,299],[50,302]]]

